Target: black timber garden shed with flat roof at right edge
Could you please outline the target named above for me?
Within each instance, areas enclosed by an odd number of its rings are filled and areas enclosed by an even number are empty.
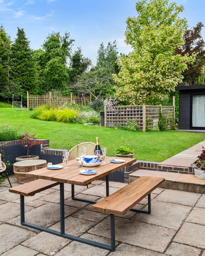
[[[177,86],[179,129],[205,130],[205,85]]]

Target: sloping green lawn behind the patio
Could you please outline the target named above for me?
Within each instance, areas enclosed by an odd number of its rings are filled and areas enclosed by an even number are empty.
[[[83,124],[40,121],[30,118],[31,111],[16,111],[14,108],[0,109],[0,124],[20,126],[22,132],[36,133],[39,139],[49,139],[50,148],[70,149],[81,142],[96,142],[99,137],[101,147],[107,147],[107,155],[114,156],[117,146],[130,146],[134,157],[144,161],[163,161],[198,142],[205,135],[170,130],[165,132],[128,132],[122,129]]]

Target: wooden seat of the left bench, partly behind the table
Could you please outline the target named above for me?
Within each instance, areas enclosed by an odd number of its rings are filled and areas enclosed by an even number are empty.
[[[38,179],[10,188],[9,191],[24,196],[33,196],[37,192],[52,188],[53,186],[56,186],[58,184],[58,182],[53,182],[52,180]]]

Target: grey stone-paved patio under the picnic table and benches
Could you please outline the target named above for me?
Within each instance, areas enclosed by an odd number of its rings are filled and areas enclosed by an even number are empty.
[[[11,177],[12,185],[17,185]],[[125,186],[110,182],[111,193]],[[116,217],[115,252],[59,238],[20,225],[20,197],[0,185],[0,255],[2,256],[205,256],[205,195],[157,188],[152,193],[152,213],[128,212]],[[77,186],[81,197],[105,196],[105,182]],[[59,227],[58,187],[30,196],[26,201],[26,220],[43,226]],[[146,208],[143,199],[138,207]],[[40,217],[39,217],[40,216]],[[65,229],[73,235],[109,242],[109,216],[92,211],[92,205],[72,201],[71,186],[65,186]]]

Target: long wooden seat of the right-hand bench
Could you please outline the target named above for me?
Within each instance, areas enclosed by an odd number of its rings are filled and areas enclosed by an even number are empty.
[[[142,176],[94,204],[93,210],[123,215],[164,181],[161,177]]]

